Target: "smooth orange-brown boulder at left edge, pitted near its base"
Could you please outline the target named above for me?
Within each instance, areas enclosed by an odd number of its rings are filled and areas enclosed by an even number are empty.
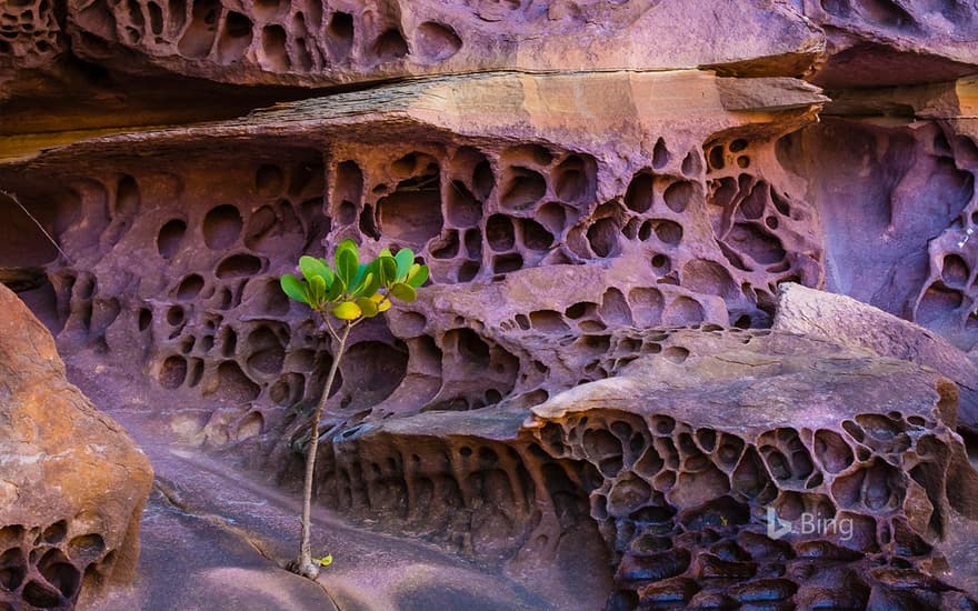
[[[2,287],[0,310],[0,608],[68,609],[130,578],[152,470]]]

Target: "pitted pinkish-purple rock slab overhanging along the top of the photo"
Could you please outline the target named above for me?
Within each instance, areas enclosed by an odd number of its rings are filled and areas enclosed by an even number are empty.
[[[335,84],[498,69],[676,69],[770,58],[800,73],[824,41],[787,7],[749,0],[689,11],[643,0],[68,2],[74,51],[232,82]],[[715,29],[715,20],[732,27]],[[711,39],[689,46],[689,37]],[[130,53],[126,53],[130,51]]]

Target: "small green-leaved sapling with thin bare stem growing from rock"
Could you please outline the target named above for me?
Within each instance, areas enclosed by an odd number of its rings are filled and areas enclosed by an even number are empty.
[[[326,388],[312,414],[309,448],[306,455],[306,478],[302,491],[302,534],[299,557],[290,570],[309,579],[319,575],[319,568],[332,560],[313,559],[309,538],[312,511],[312,479],[316,473],[316,453],[319,448],[319,418],[329,399],[339,370],[350,331],[368,318],[390,309],[391,299],[415,301],[417,289],[428,280],[428,267],[415,262],[415,253],[402,248],[397,254],[380,251],[369,263],[360,262],[360,252],[352,240],[343,240],[333,254],[333,266],[325,259],[303,256],[299,259],[302,278],[287,273],[281,278],[282,290],[291,299],[306,303],[322,317],[335,342],[332,364],[326,378]],[[333,324],[333,319],[337,324]]]

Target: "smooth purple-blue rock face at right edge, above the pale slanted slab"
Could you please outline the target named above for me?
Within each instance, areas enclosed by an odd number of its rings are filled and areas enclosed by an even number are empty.
[[[968,131],[975,121],[830,118],[779,143],[785,168],[807,177],[801,197],[831,236],[826,288],[932,329],[965,351],[978,341],[978,146]]]

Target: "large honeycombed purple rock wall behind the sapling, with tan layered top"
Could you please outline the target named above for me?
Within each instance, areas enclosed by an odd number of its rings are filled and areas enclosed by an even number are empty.
[[[817,286],[821,269],[812,212],[761,172],[784,129],[774,121],[806,121],[822,98],[790,79],[761,83],[752,100],[700,72],[411,83],[79,143],[0,176],[57,202],[71,263],[34,298],[66,344],[146,363],[196,398],[208,411],[199,440],[268,445],[319,395],[330,359],[277,279],[346,237],[413,248],[435,286],[358,328],[329,407],[337,423],[566,388],[601,374],[588,363],[622,325],[769,324],[775,283]],[[603,102],[612,88],[618,106]],[[589,132],[549,111],[571,96]],[[623,119],[622,152],[667,122],[672,136],[622,158],[599,142]],[[269,130],[289,144],[272,148]],[[405,143],[378,148],[381,133]],[[200,172],[216,136],[238,153]],[[171,156],[191,142],[197,153]],[[38,244],[34,264],[49,257]],[[556,333],[578,348],[558,359]]]

